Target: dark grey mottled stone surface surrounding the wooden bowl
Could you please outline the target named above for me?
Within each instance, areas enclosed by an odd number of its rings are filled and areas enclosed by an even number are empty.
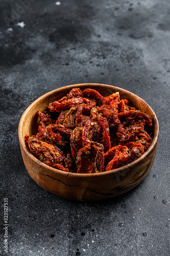
[[[1,255],[4,197],[8,255],[169,255],[169,0],[1,0],[0,10]],[[20,153],[23,111],[44,93],[80,82],[137,94],[160,124],[149,175],[106,202],[48,193],[31,179]]]

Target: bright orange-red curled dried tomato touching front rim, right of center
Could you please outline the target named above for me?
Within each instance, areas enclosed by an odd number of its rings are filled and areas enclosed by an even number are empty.
[[[108,170],[112,170],[125,165],[130,158],[130,151],[127,146],[118,145],[111,147],[110,150],[104,154],[104,157],[105,164],[107,164],[107,172]]]

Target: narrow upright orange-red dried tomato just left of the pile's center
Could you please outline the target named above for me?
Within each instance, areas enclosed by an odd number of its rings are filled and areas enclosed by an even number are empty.
[[[76,127],[70,136],[71,155],[74,159],[76,159],[78,151],[82,148],[82,133],[83,127]]]

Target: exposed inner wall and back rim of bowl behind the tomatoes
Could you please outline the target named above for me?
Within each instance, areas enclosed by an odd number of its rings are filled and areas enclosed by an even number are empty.
[[[47,109],[47,106],[50,102],[55,100],[59,100],[63,96],[66,96],[72,88],[80,88],[84,90],[86,88],[91,88],[99,93],[101,93],[104,97],[111,95],[112,93],[119,92],[120,99],[128,99],[131,102],[131,105],[134,106],[137,110],[141,112],[147,113],[152,117],[153,120],[153,127],[152,127],[152,136],[153,142],[150,147],[152,147],[156,142],[159,134],[159,125],[157,117],[151,107],[140,97],[137,95],[128,92],[122,88],[117,88],[114,86],[108,86],[106,84],[74,84],[72,86],[66,86],[63,88],[56,89],[54,91],[48,92],[35,100],[23,113],[20,124],[19,124],[19,140],[22,143],[22,146],[25,147],[25,150],[28,151],[28,154],[31,155],[29,152],[26,143],[25,143],[25,135],[36,135],[38,129],[39,118],[36,115],[36,111],[44,111]],[[144,154],[146,154],[145,152]],[[144,156],[143,154],[143,156]],[[143,157],[142,156],[142,157]],[[56,170],[56,169],[55,169]]]

